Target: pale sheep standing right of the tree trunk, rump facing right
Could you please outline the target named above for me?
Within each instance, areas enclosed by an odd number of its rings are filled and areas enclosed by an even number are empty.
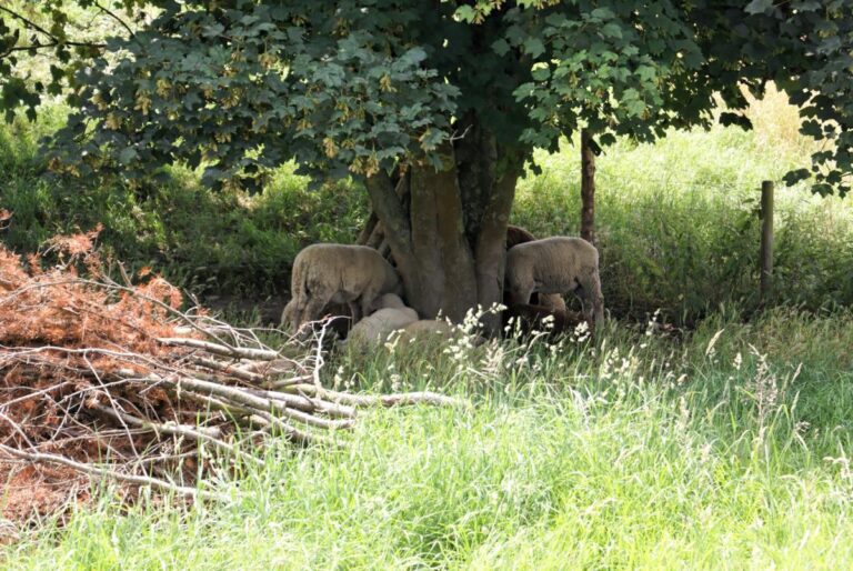
[[[555,236],[513,246],[506,252],[510,303],[530,303],[533,292],[573,292],[584,305],[586,319],[604,323],[604,297],[599,277],[599,251],[586,240]]]

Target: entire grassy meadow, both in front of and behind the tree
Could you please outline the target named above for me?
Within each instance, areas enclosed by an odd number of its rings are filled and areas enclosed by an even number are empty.
[[[89,507],[22,530],[9,569],[845,569],[853,565],[853,207],[777,188],[776,290],[754,312],[762,180],[813,143],[772,94],[757,129],[620,141],[598,163],[612,315],[584,335],[331,357],[329,385],[439,390],[470,407],[380,410],[343,450],[263,452],[217,472],[230,500]],[[285,294],[304,244],[350,241],[358,188],[262,194],[194,173],[147,196],[47,176],[37,140],[0,129],[0,234],[24,252],[103,222],[103,247],[199,294]],[[579,151],[538,157],[513,221],[574,233]],[[846,309],[845,309],[846,308]],[[660,312],[655,315],[655,310]],[[749,318],[749,319],[745,319]],[[662,323],[683,324],[673,332]]]

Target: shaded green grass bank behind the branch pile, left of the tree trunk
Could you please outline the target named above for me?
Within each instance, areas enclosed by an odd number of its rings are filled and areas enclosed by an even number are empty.
[[[38,141],[64,119],[52,108],[32,124],[0,127],[0,208],[13,213],[0,236],[32,252],[56,233],[99,222],[106,252],[131,270],[152,267],[195,294],[262,298],[289,288],[290,264],[317,241],[353,241],[367,197],[351,183],[308,190],[292,167],[272,173],[260,196],[214,193],[194,172],[169,169],[170,181],[140,196],[116,181],[97,184],[47,171]]]

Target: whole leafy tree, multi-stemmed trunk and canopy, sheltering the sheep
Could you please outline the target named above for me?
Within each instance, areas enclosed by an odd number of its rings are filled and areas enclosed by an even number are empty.
[[[722,121],[749,127],[741,86],[772,80],[803,132],[835,143],[787,180],[849,190],[843,0],[117,3],[159,12],[73,74],[53,164],[141,181],[184,161],[213,187],[252,188],[291,159],[315,181],[354,177],[423,315],[501,300],[516,180],[580,128],[595,146],[653,140],[709,126],[715,93]]]

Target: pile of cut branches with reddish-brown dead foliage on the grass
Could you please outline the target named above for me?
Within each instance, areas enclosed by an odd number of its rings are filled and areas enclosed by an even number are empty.
[[[54,238],[48,251],[60,263],[50,269],[0,246],[7,518],[86,499],[92,477],[123,482],[130,493],[147,485],[213,497],[198,480],[218,454],[231,465],[260,463],[252,448],[271,437],[342,445],[360,407],[455,402],[327,390],[322,328],[310,343],[273,349],[263,331],[198,307],[182,311],[181,293],[160,277],[142,271],[132,283],[120,271],[122,283],[110,279],[97,234]]]

